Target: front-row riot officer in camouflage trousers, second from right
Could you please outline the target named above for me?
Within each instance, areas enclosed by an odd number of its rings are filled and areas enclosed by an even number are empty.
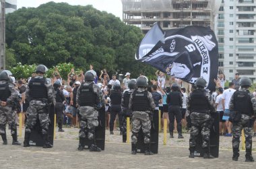
[[[191,118],[191,131],[189,139],[189,158],[194,158],[194,151],[197,136],[201,131],[203,139],[203,158],[212,158],[210,156],[210,127],[212,119],[210,111],[214,110],[211,102],[210,94],[205,91],[206,81],[203,78],[198,78],[195,82],[196,89],[188,97],[187,110]]]

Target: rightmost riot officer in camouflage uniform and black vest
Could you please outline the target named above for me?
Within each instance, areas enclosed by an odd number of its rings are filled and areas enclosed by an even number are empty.
[[[242,77],[239,82],[241,88],[234,92],[231,97],[229,109],[233,116],[230,116],[233,127],[233,157],[232,160],[237,161],[239,157],[239,143],[241,131],[245,131],[245,162],[254,162],[251,155],[253,124],[256,115],[256,99],[248,90],[251,86],[251,80],[248,77]]]

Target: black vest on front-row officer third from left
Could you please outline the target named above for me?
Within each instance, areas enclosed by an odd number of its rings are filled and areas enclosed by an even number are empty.
[[[90,83],[88,86],[80,86],[79,88],[79,100],[80,105],[79,106],[94,106],[95,104],[98,104],[98,96],[96,93],[94,93],[93,83]]]

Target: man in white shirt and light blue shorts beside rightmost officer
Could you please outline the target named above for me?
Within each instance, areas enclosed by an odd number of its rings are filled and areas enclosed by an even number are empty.
[[[228,133],[226,133],[226,135],[224,136],[227,136],[227,137],[232,137],[232,134],[231,134],[232,123],[228,121],[228,119],[230,116],[229,102],[234,92],[236,92],[236,90],[234,90],[234,83],[230,82],[229,88],[224,90],[222,94],[222,108],[224,109],[224,114],[222,119],[226,121],[226,127],[228,129]]]

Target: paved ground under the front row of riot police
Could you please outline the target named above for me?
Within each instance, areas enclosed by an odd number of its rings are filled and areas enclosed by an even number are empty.
[[[1,141],[0,168],[255,168],[256,164],[244,162],[245,151],[241,151],[238,162],[233,162],[229,148],[220,149],[220,158],[190,159],[186,134],[183,141],[168,139],[168,145],[162,145],[161,134],[159,154],[154,156],[131,155],[131,145],[120,143],[118,131],[115,135],[106,132],[105,151],[77,151],[77,130],[65,129],[65,133],[57,133],[52,149],[1,145]],[[231,144],[230,137],[222,139]],[[19,140],[23,141],[23,137]],[[8,141],[11,142],[11,137],[8,137]],[[256,158],[256,151],[253,151],[253,156]]]

